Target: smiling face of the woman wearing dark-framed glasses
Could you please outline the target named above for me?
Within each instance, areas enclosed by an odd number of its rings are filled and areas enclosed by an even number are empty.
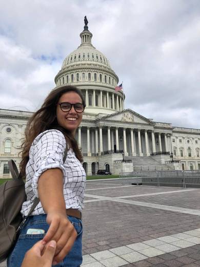
[[[63,96],[59,99],[58,103],[69,102],[71,104],[82,103],[81,97],[73,91],[64,93]],[[76,129],[79,124],[82,122],[83,113],[77,113],[72,106],[71,110],[68,112],[63,112],[61,107],[57,105],[56,109],[57,122],[64,129],[70,131],[75,135]]]

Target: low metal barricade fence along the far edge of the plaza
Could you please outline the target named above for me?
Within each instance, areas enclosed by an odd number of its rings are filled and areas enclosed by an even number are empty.
[[[132,173],[120,173],[122,184],[151,184],[167,186],[200,187],[200,170],[162,170],[162,171],[133,171]]]

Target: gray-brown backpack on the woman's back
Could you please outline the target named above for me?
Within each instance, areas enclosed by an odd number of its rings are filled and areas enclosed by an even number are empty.
[[[25,183],[14,161],[9,160],[8,165],[12,180],[0,186],[0,262],[9,256],[19,230],[39,203],[39,199],[35,198],[28,216],[22,217],[22,204],[26,200]]]

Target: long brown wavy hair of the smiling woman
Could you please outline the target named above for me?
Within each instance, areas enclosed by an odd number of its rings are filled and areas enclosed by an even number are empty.
[[[30,118],[25,129],[25,138],[22,143],[22,151],[19,154],[22,154],[22,161],[19,165],[21,169],[21,174],[24,176],[26,174],[26,165],[29,161],[29,150],[33,140],[39,135],[39,133],[49,130],[57,129],[61,131],[66,139],[66,142],[73,149],[76,158],[79,161],[83,161],[83,156],[81,151],[78,148],[77,142],[73,137],[72,133],[67,129],[61,127],[56,118],[56,107],[59,99],[67,92],[75,92],[81,97],[82,103],[85,105],[81,91],[74,86],[61,86],[56,89],[53,89],[48,97],[45,99],[42,107],[38,109]]]

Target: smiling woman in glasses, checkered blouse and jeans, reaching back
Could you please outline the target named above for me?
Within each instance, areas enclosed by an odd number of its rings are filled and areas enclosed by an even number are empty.
[[[82,263],[81,210],[86,174],[75,132],[84,108],[81,92],[62,86],[50,92],[27,124],[20,166],[26,175],[23,216],[35,197],[40,202],[19,233],[8,258],[9,267],[21,266],[25,253],[41,239],[43,244],[56,241],[53,265],[75,267]]]

